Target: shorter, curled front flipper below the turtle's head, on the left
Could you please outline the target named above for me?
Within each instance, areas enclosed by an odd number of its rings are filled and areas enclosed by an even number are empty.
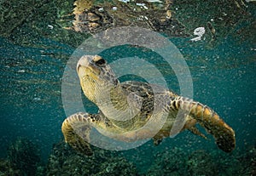
[[[79,112],[68,116],[61,127],[65,142],[87,156],[93,154],[90,149],[90,130],[95,118],[96,115]]]

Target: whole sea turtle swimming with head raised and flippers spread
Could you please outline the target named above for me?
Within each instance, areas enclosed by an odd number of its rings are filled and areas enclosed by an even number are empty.
[[[205,138],[195,127],[199,123],[213,135],[221,150],[230,152],[235,148],[233,129],[207,105],[148,82],[119,82],[107,61],[99,55],[82,56],[77,73],[85,96],[100,110],[98,114],[78,112],[68,116],[61,129],[66,142],[86,155],[93,154],[91,128],[125,142],[153,138],[154,144],[158,145],[161,139],[170,136],[180,111],[184,116],[182,130],[188,129]],[[165,122],[161,122],[165,113]],[[125,120],[121,120],[122,117]]]

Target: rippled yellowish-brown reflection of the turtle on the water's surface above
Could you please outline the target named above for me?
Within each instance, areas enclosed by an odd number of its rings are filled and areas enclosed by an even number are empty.
[[[151,2],[151,3],[150,3]],[[152,3],[154,2],[154,3]],[[141,3],[120,0],[74,2],[73,14],[75,31],[96,33],[118,26],[140,26],[154,31],[165,32],[170,36],[185,36],[183,26],[172,19],[171,0]]]

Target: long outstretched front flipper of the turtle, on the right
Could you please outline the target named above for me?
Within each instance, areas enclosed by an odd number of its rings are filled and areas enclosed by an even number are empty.
[[[172,107],[187,111],[189,116],[194,117],[202,127],[206,128],[208,133],[213,135],[218,148],[225,152],[235,149],[236,139],[234,130],[207,105],[202,105],[192,99],[177,97],[172,102]]]

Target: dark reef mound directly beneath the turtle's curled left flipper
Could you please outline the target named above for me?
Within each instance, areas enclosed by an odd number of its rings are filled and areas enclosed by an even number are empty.
[[[136,167],[117,152],[93,150],[93,156],[84,156],[64,142],[54,145],[46,175],[137,175]]]

